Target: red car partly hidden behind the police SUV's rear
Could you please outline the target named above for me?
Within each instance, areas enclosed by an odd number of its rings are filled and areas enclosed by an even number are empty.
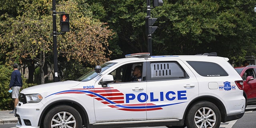
[[[244,80],[244,97],[246,105],[256,104],[256,65],[235,67]]]

